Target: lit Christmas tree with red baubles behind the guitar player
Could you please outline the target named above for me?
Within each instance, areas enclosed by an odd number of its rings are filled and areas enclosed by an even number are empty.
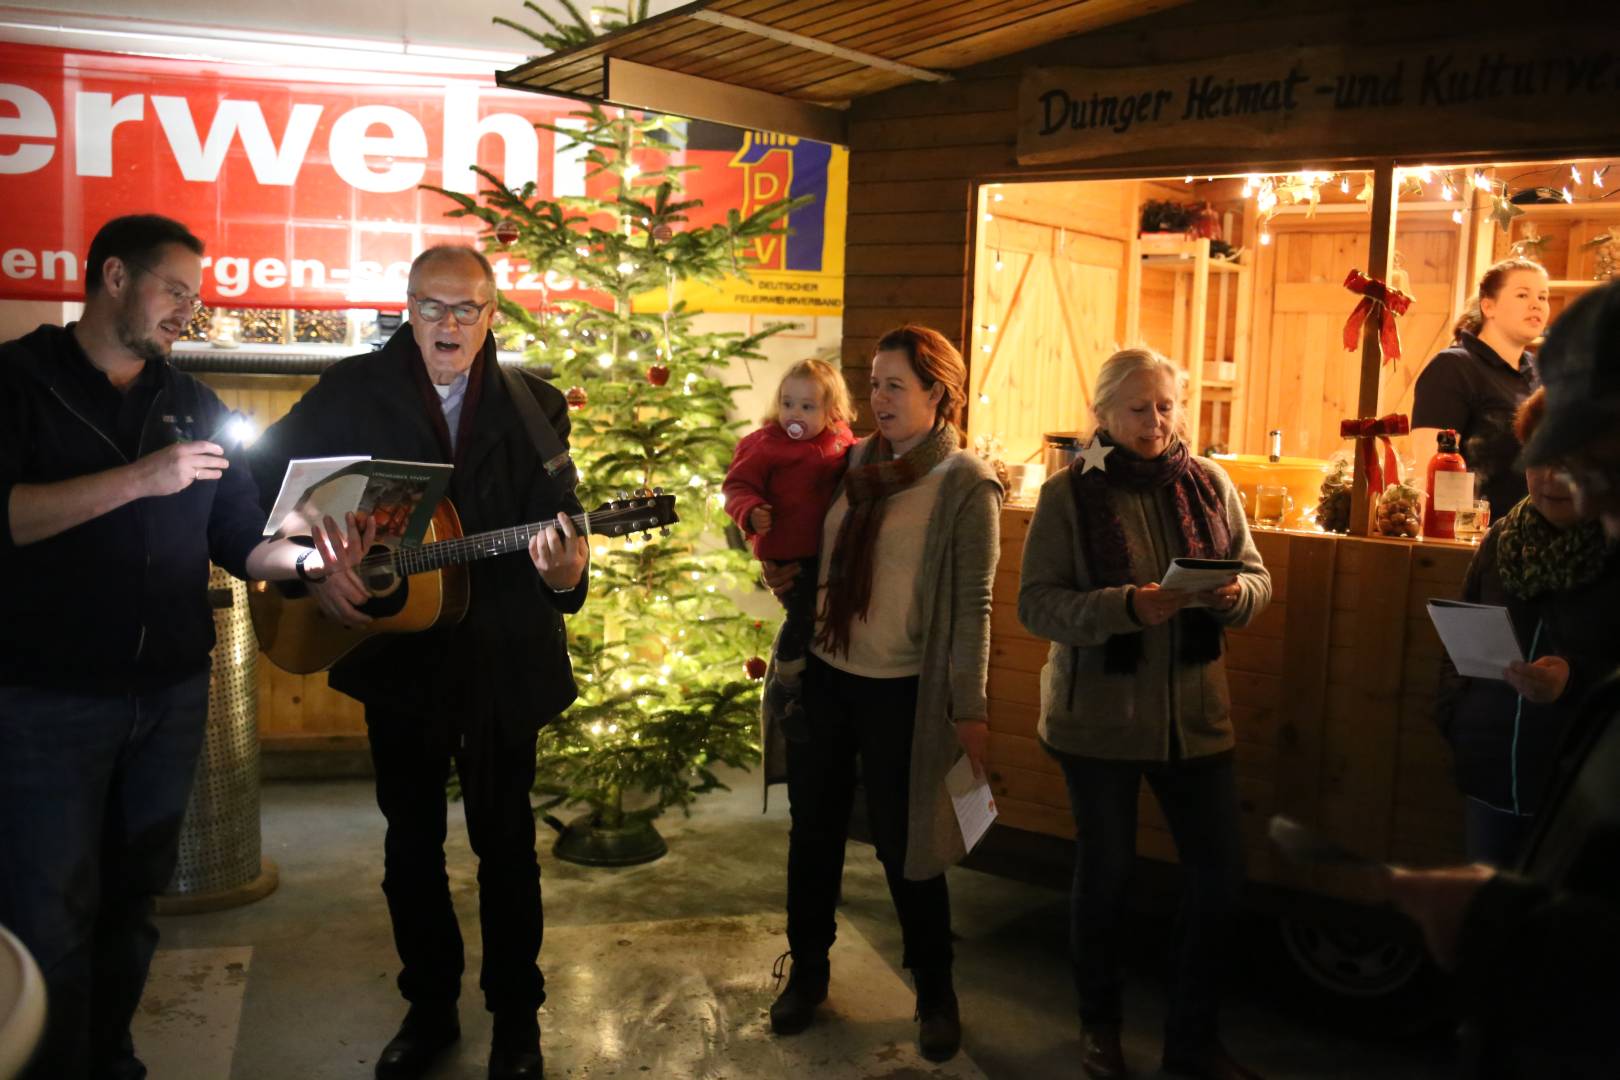
[[[688,167],[674,152],[682,121],[595,107],[577,117],[583,128],[549,130],[583,149],[588,196],[512,191],[483,170],[480,198],[444,194],[458,202],[452,217],[489,227],[492,248],[596,295],[538,311],[502,300],[526,361],[567,389],[585,507],[654,489],[677,497],[680,521],[667,534],[593,544],[591,599],[569,620],[580,699],[536,751],[539,810],[588,808],[557,853],[622,863],[663,853],[651,821],[723,787],[716,764],[758,758],[758,656],[774,627],[734,599],[757,576],[735,538],[727,542],[719,486],[742,427],[729,416],[740,387],[727,376],[763,359],[770,332],[698,332],[676,291],[682,280],[745,274],[747,244],[786,230],[804,199],[690,227],[698,204],[682,198]]]

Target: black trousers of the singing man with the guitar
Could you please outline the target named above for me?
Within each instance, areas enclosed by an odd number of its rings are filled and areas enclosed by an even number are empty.
[[[478,986],[491,1012],[535,1012],[546,1001],[539,973],[544,915],[535,858],[535,743],[504,745],[480,767],[447,746],[420,716],[366,708],[377,806],[387,819],[382,894],[400,957],[399,988],[410,1002],[452,1002],[462,993],[462,929],[444,871],[446,780],[454,761],[467,806],[467,839],[478,857]]]

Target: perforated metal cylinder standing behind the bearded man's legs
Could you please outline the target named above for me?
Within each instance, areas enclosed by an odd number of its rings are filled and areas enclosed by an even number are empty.
[[[219,567],[209,573],[214,667],[207,733],[180,826],[180,861],[159,915],[251,904],[275,891],[275,863],[259,850],[259,643],[248,586]]]

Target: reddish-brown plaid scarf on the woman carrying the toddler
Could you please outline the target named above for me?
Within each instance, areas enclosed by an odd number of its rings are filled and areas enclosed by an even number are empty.
[[[889,440],[875,436],[862,463],[844,473],[849,513],[838,528],[828,560],[816,644],[849,656],[850,625],[857,615],[865,620],[872,606],[873,552],[878,533],[883,531],[889,495],[915,484],[956,450],[957,436],[951,424],[936,424],[922,442],[897,458],[893,457]]]

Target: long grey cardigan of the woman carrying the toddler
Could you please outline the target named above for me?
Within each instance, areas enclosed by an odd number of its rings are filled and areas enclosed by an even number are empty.
[[[849,460],[865,463],[870,453],[868,436],[850,447]],[[987,716],[990,586],[1001,544],[1001,484],[995,473],[969,450],[957,450],[946,460],[949,468],[940,483],[938,504],[914,585],[917,623],[923,627],[923,656],[912,727],[910,811],[906,826],[904,873],[912,881],[935,878],[966,855],[962,831],[944,790],[944,774],[962,755],[956,740],[956,721]],[[821,552],[823,559],[829,555],[831,552]],[[894,568],[886,570],[893,572]],[[763,708],[760,724],[765,784],[779,784],[787,779],[787,737]]]

